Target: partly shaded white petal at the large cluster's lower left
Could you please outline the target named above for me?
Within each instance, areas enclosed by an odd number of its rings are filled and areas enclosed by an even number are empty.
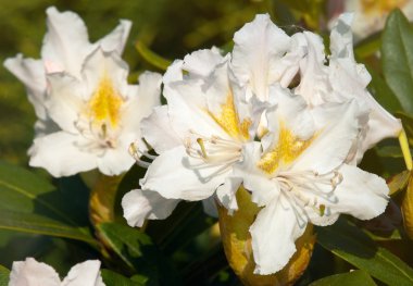
[[[123,216],[128,225],[141,227],[145,220],[170,216],[179,201],[165,199],[157,191],[133,189],[122,199]]]

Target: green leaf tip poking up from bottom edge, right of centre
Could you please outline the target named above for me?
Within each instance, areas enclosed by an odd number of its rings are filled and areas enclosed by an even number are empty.
[[[352,271],[349,273],[331,275],[320,281],[313,282],[310,286],[375,286],[372,277],[362,270]]]

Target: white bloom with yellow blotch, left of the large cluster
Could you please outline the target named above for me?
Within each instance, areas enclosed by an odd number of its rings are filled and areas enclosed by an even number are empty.
[[[139,86],[127,84],[128,66],[120,52],[128,22],[92,45],[76,14],[54,8],[47,13],[42,59],[5,62],[27,85],[41,127],[29,164],[53,176],[97,167],[107,175],[127,171],[134,163],[127,149],[140,138],[140,120],[160,104],[161,76],[143,73]]]

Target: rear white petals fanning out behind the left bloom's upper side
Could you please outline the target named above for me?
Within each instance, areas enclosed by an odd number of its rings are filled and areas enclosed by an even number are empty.
[[[100,46],[103,51],[115,50],[122,53],[132,26],[129,21],[121,20],[111,34],[90,43],[85,23],[77,14],[70,11],[61,13],[54,7],[48,8],[46,13],[47,34],[41,48],[41,60],[24,59],[17,54],[4,62],[4,66],[26,86],[28,99],[38,117],[38,135],[55,128],[43,104],[47,98],[47,74],[65,72],[80,77],[86,57],[97,47]]]

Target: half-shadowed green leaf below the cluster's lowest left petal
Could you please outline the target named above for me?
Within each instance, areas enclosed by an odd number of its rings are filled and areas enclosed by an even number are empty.
[[[102,223],[98,228],[103,240],[135,274],[148,277],[147,285],[178,284],[174,271],[148,235],[116,223]]]

